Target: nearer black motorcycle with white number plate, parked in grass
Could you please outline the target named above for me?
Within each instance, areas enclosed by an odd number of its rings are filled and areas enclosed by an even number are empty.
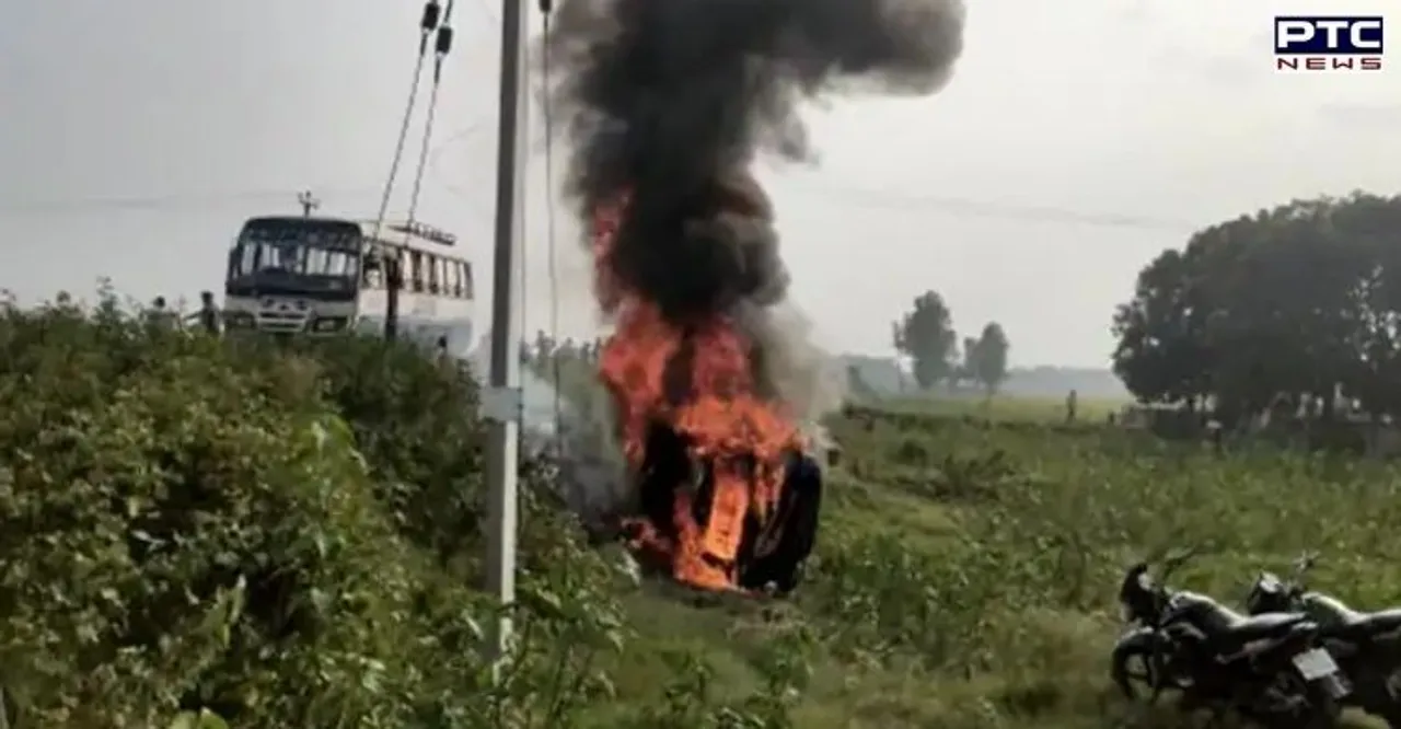
[[[1168,561],[1160,579],[1185,559]],[[1112,653],[1114,681],[1128,698],[1135,698],[1128,666],[1139,658],[1150,702],[1177,690],[1182,709],[1234,711],[1269,729],[1337,723],[1351,688],[1306,615],[1240,615],[1209,596],[1154,582],[1147,562],[1128,569],[1119,603],[1138,624]]]

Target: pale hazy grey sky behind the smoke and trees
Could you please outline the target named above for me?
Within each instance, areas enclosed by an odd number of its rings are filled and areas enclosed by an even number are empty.
[[[827,100],[807,114],[821,161],[765,165],[793,299],[834,352],[888,353],[890,322],[933,289],[960,331],[1000,322],[1014,364],[1105,366],[1114,306],[1192,230],[1292,198],[1401,192],[1401,67],[1279,74],[1271,56],[1276,14],[1390,10],[1401,24],[1398,7],[976,0],[941,93]],[[220,286],[241,222],[296,212],[300,189],[325,214],[374,217],[420,8],[0,4],[0,289],[32,301],[109,278],[137,299],[195,299]],[[483,289],[499,8],[454,10],[419,205],[460,236]],[[551,185],[541,111],[530,109],[524,328],[590,335],[588,261]],[[422,125],[420,114],[391,213],[408,207]],[[553,157],[562,168],[563,150]]]

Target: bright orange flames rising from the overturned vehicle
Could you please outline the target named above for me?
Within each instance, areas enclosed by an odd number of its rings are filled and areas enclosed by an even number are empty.
[[[616,404],[623,454],[630,471],[639,472],[647,435],[661,422],[689,442],[692,463],[710,465],[713,481],[703,524],[695,517],[696,493],[681,484],[672,523],[667,524],[671,529],[632,520],[630,547],[639,557],[670,566],[678,582],[737,589],[745,517],[762,524],[776,507],[783,456],[799,446],[799,432],[776,402],[758,397],[750,366],[752,343],[731,320],[716,315],[682,332],[653,303],[619,285],[608,257],[625,205],[622,196],[616,205],[598,209],[593,234],[595,293],[615,320],[598,369]],[[681,397],[675,397],[677,383],[684,388]]]

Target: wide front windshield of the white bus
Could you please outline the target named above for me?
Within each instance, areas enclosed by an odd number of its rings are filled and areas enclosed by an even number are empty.
[[[228,255],[231,296],[354,296],[360,227],[343,220],[249,220]]]

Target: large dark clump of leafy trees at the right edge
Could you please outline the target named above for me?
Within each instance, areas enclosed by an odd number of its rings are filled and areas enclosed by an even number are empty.
[[[1223,425],[1276,408],[1401,415],[1401,196],[1293,200],[1166,250],[1117,307],[1114,372]]]

